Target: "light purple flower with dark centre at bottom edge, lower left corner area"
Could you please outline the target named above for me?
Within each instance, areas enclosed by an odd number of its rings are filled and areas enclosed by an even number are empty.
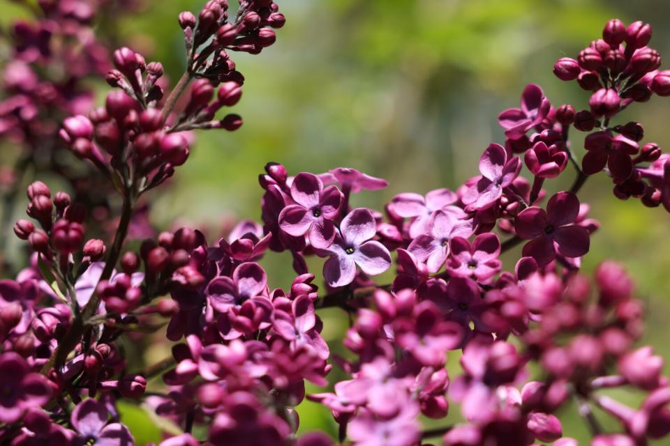
[[[95,399],[84,399],[77,404],[70,421],[79,433],[82,444],[101,446],[131,446],[133,434],[121,423],[107,421],[107,408]]]

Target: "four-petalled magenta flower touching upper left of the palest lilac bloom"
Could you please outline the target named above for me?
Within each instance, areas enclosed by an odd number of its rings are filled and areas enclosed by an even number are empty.
[[[281,230],[294,237],[308,234],[309,243],[317,249],[329,247],[335,238],[333,220],[342,204],[342,193],[335,186],[324,189],[318,176],[303,172],[293,178],[291,197],[296,204],[279,214]]]

